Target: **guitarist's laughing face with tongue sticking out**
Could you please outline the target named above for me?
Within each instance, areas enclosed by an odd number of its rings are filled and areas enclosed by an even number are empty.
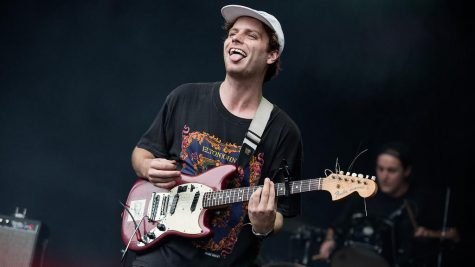
[[[226,73],[233,77],[264,77],[268,64],[278,57],[277,51],[268,52],[269,36],[262,22],[240,17],[229,30],[224,41]]]

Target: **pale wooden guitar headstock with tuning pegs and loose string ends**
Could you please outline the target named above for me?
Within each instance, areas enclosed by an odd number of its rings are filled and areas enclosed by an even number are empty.
[[[322,189],[330,192],[332,200],[342,199],[353,192],[358,192],[361,197],[367,198],[376,194],[378,186],[376,177],[342,171],[332,173],[325,177],[322,182]]]

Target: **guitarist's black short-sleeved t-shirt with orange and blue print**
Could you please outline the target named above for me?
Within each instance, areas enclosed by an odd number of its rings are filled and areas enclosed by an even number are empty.
[[[181,172],[192,176],[215,166],[235,164],[251,120],[236,117],[224,107],[219,96],[220,84],[184,84],[173,90],[137,146],[156,157],[180,160]],[[274,105],[261,143],[244,175],[233,179],[231,186],[262,184],[265,177],[276,175],[283,159],[298,179],[302,157],[300,130]],[[274,182],[278,182],[277,177]],[[279,198],[278,210],[285,217],[298,215],[300,196]],[[252,266],[260,242],[246,224],[249,222],[247,202],[231,204],[210,214],[214,233],[211,237],[167,237],[151,251],[139,255],[136,262],[143,266],[152,266],[150,263],[160,263],[160,266]]]

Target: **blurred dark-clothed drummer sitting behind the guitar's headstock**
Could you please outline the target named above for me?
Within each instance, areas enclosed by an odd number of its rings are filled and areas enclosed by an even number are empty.
[[[407,146],[384,145],[376,155],[378,193],[366,199],[366,205],[361,198],[348,199],[312,259],[329,260],[343,247],[366,243],[365,249],[392,266],[435,266],[440,240],[456,243],[459,234],[455,227],[440,230],[443,200],[435,201],[426,188],[411,186],[411,171]]]

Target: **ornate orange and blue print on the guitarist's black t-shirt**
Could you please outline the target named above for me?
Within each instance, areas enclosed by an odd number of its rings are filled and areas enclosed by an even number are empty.
[[[235,164],[240,149],[240,145],[223,142],[209,133],[191,132],[185,125],[182,131],[180,158],[184,163],[181,172],[187,175],[198,175],[223,164]],[[257,185],[264,164],[263,154],[260,153],[257,157],[252,156],[249,163],[249,168],[232,179],[228,187]],[[234,203],[211,214],[212,237],[194,241],[194,245],[204,249],[207,255],[224,258],[231,254],[244,224],[247,202]]]

